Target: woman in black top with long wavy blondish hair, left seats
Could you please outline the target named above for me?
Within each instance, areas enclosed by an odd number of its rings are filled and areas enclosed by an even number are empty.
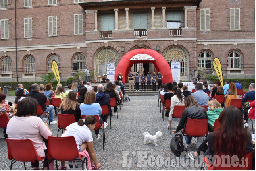
[[[77,92],[70,91],[65,101],[60,104],[60,111],[62,114],[73,114],[75,116],[75,122],[81,119],[80,103],[77,102]]]

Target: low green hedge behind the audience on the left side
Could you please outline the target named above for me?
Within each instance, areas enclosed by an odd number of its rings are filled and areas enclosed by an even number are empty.
[[[29,90],[29,87],[34,84],[34,83],[37,83],[37,84],[43,84],[43,82],[39,81],[39,82],[33,82],[33,81],[30,81],[30,82],[1,82],[1,88],[3,89],[4,86],[8,86],[9,90],[16,90],[17,89],[17,85],[21,83],[23,85],[23,88],[24,89],[27,89]],[[60,82],[63,86],[66,86],[67,85],[67,82],[66,81],[62,81]],[[45,85],[45,84],[44,84]],[[56,85],[53,85],[53,89],[55,90],[56,89]]]

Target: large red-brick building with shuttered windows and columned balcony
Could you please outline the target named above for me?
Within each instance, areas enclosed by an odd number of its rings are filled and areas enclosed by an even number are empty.
[[[52,60],[61,80],[74,63],[97,76],[139,48],[181,62],[182,81],[216,57],[224,78],[255,78],[255,1],[1,0],[1,81],[40,80]]]

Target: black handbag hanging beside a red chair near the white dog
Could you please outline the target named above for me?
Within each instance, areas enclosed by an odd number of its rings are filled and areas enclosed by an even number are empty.
[[[175,134],[175,136],[171,139],[170,148],[171,148],[171,151],[177,157],[181,156],[181,152],[187,151],[183,145],[182,131],[181,131],[181,134]]]

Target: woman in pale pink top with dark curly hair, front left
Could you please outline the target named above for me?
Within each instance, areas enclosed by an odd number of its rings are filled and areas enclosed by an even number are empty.
[[[40,157],[45,157],[47,154],[47,143],[43,141],[48,136],[52,136],[50,128],[47,123],[44,124],[42,119],[37,116],[32,116],[37,109],[37,100],[33,97],[26,97],[18,102],[17,113],[12,117],[7,124],[6,133],[10,139],[30,139],[37,154]],[[47,157],[44,159],[48,163]],[[31,162],[33,170],[39,170],[39,162]],[[45,169],[48,169],[45,167]]]

